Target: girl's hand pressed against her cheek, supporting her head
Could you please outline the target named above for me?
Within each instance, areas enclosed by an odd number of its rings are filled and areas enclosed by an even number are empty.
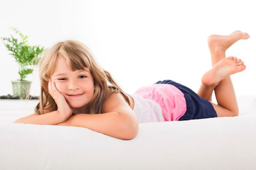
[[[52,82],[51,79],[49,79],[48,89],[49,89],[49,94],[52,96],[52,98],[56,102],[56,104],[58,106],[58,111],[59,111],[60,115],[63,117],[63,119],[66,120],[66,119],[70,118],[73,113],[73,110],[68,105],[65,97],[56,88],[55,82]]]

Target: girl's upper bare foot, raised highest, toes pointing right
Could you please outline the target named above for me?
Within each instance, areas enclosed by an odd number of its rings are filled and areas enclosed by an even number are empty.
[[[249,34],[243,33],[241,31],[234,31],[229,35],[210,35],[208,37],[208,46],[210,51],[226,51],[230,46],[232,46],[239,39],[248,39]]]

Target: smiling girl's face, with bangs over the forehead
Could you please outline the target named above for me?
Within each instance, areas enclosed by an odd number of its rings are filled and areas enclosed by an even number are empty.
[[[74,114],[87,111],[86,106],[94,94],[94,79],[89,69],[72,71],[66,59],[58,56],[56,69],[50,78],[73,108]]]

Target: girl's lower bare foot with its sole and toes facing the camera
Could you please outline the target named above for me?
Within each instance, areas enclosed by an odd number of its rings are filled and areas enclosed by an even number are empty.
[[[204,85],[216,86],[227,76],[243,71],[245,68],[246,66],[241,59],[233,56],[223,58],[203,75],[201,81]]]

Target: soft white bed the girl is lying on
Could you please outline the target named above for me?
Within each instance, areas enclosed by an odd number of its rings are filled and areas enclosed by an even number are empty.
[[[131,140],[82,127],[12,123],[33,113],[35,103],[6,103],[0,170],[256,170],[256,96],[237,101],[238,117],[140,123]]]

